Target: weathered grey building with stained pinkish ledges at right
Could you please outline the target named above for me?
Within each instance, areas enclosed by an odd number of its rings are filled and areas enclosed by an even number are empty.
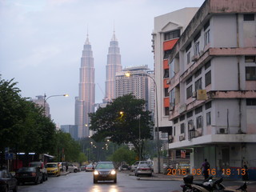
[[[254,0],[206,0],[170,52],[169,148],[190,152],[191,171],[207,158],[256,178],[255,14]]]

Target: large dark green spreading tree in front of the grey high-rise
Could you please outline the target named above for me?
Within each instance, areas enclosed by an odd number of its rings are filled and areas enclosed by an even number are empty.
[[[144,140],[151,138],[150,130],[153,127],[150,111],[145,110],[145,105],[145,100],[127,94],[114,99],[114,102],[110,102],[105,108],[99,108],[95,113],[89,114],[90,130],[96,131],[94,140],[99,142],[110,138],[111,142],[118,145],[131,142],[138,156],[139,151],[142,154]]]

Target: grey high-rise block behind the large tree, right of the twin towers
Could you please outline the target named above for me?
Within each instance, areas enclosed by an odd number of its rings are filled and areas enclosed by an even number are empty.
[[[130,77],[126,77],[126,73]],[[130,66],[126,67],[115,76],[115,98],[122,97],[125,94],[134,94],[136,98],[142,98],[146,101],[146,110],[154,110],[154,91],[152,91],[153,76],[148,66]],[[154,77],[153,77],[154,78]],[[152,105],[153,104],[153,105]]]

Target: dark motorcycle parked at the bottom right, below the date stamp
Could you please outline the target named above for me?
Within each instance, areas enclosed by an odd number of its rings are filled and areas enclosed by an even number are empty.
[[[245,182],[242,186],[238,189],[228,189],[223,184],[223,178],[219,178],[216,181],[213,181],[212,177],[210,176],[202,183],[193,182],[194,177],[193,175],[186,175],[183,178],[184,185],[182,185],[182,192],[246,192],[247,190],[247,183]]]

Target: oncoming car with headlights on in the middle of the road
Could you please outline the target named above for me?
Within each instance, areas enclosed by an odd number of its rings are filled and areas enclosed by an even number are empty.
[[[117,182],[117,172],[114,170],[113,162],[98,162],[94,170],[94,183],[111,180]]]

